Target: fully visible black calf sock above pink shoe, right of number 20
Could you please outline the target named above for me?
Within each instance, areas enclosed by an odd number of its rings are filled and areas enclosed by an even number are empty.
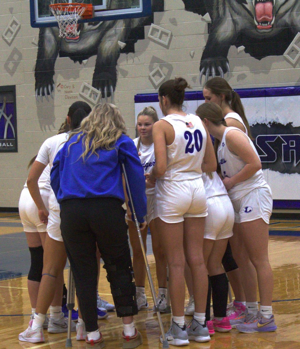
[[[228,280],[226,273],[210,276],[212,287],[212,307],[216,317],[226,317]]]

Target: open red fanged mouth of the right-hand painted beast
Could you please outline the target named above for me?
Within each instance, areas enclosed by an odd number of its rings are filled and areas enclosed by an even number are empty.
[[[275,21],[273,14],[275,0],[252,0],[252,2],[255,8],[256,29],[271,29]]]

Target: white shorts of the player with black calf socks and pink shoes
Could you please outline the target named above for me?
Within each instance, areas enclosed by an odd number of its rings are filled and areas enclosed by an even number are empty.
[[[234,210],[228,195],[207,199],[204,239],[220,240],[233,235]]]

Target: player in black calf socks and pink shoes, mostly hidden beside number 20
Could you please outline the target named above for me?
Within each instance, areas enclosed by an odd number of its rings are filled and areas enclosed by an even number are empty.
[[[198,115],[198,111],[196,111]],[[234,210],[224,184],[217,172],[202,174],[206,199],[203,254],[212,289],[213,319],[210,319],[211,292],[207,297],[207,327],[210,335],[215,331],[229,332],[231,325],[226,316],[228,280],[222,267],[222,258],[228,238],[233,235]],[[193,295],[191,273],[185,266],[185,281],[190,295]]]

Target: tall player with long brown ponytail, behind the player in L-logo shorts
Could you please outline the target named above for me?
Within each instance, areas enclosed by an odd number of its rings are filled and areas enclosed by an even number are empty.
[[[237,127],[252,139],[240,96],[225,79],[214,77],[207,81],[203,89],[203,96],[205,102],[214,102],[221,107],[228,127]],[[245,258],[240,249],[238,223],[234,223],[233,232],[234,234],[229,239],[230,243],[227,245],[222,262],[235,296],[233,304],[229,305],[227,311],[230,323],[235,327],[245,320],[247,313],[257,313],[258,303],[256,271],[251,261]],[[235,259],[232,256],[231,247]],[[237,268],[237,265],[239,265],[239,268]]]

